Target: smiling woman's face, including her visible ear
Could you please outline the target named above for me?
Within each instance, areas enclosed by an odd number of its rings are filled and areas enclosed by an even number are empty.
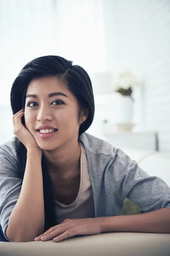
[[[75,96],[57,77],[35,79],[28,85],[25,123],[40,148],[53,150],[77,139],[79,125],[87,118],[78,122],[78,113]]]

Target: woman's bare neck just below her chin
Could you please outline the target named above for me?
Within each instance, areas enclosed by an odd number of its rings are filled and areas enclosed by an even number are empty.
[[[52,175],[67,178],[70,170],[75,168],[81,154],[78,139],[69,141],[65,145],[52,151],[43,151],[48,172]]]

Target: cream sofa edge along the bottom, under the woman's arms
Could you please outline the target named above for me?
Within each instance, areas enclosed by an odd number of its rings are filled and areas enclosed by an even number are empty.
[[[59,243],[0,242],[3,256],[170,256],[170,235],[151,233],[103,233],[77,236]]]

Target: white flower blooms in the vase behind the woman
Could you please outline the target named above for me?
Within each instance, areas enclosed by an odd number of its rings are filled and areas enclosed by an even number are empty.
[[[125,70],[124,72],[120,73],[113,81],[115,90],[118,88],[127,90],[129,87],[133,87],[139,84],[140,82],[132,73],[130,73],[129,70]]]

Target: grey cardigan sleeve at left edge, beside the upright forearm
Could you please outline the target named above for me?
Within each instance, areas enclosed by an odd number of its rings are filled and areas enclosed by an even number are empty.
[[[8,241],[8,220],[19,198],[22,183],[14,143],[8,142],[0,146],[0,225]]]

